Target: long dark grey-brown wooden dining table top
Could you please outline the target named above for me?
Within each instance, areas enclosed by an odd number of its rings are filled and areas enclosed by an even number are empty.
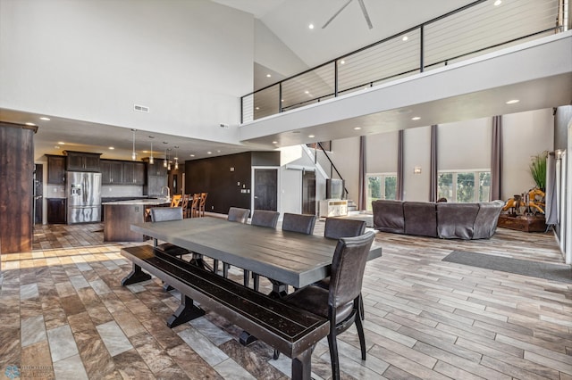
[[[330,275],[337,244],[321,235],[208,217],[137,223],[131,229],[296,288]],[[367,260],[381,255],[381,245],[374,242]]]

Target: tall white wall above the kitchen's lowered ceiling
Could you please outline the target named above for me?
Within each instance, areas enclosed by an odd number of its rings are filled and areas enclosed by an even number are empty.
[[[238,128],[214,127],[238,125],[240,95],[252,91],[251,14],[206,0],[0,0],[0,8],[0,107],[238,141]]]

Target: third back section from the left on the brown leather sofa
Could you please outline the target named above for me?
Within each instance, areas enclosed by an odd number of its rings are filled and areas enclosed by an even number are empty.
[[[475,219],[479,212],[477,203],[437,204],[437,232],[443,239],[472,239]]]

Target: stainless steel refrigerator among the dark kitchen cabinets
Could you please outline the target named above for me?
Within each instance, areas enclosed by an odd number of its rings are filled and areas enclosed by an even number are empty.
[[[68,224],[101,221],[101,173],[68,171]]]

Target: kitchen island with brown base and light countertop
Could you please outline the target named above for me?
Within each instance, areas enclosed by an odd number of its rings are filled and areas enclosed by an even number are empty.
[[[131,231],[131,224],[147,221],[147,210],[168,207],[166,198],[104,202],[104,242],[143,242],[146,236]]]

